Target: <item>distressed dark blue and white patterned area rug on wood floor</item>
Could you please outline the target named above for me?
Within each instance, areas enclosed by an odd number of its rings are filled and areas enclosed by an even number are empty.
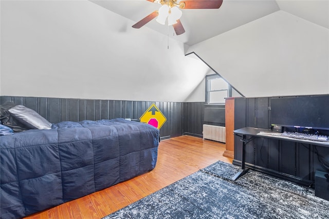
[[[104,218],[329,218],[313,189],[238,169],[218,161]]]

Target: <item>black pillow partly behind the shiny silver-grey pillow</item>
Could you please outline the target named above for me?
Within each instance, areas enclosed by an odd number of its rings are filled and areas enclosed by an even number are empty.
[[[10,108],[16,106],[16,104],[12,102],[7,102],[2,105],[0,105],[0,120],[3,125],[8,126],[11,128],[14,132],[21,132],[26,130],[26,127],[24,124],[20,123],[16,120],[15,117],[13,117],[10,112],[8,111]]]

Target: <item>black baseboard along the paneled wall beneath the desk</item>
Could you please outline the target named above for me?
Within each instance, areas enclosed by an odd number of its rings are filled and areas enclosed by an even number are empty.
[[[241,166],[241,161],[237,161],[237,160],[233,160],[232,164],[236,165],[236,166]],[[287,180],[293,183],[297,183],[299,185],[302,186],[307,186],[307,187],[312,187],[314,188],[314,182],[313,181],[309,181],[309,180],[304,180],[303,178],[297,177],[297,176],[293,176],[293,175],[289,175],[286,173],[282,173],[282,172],[278,172],[276,170],[271,170],[265,167],[261,167],[261,166],[257,166],[254,164],[249,164],[249,163],[245,163],[245,166],[251,170],[254,171],[258,171],[270,176],[274,176],[277,178],[281,178],[282,180]]]

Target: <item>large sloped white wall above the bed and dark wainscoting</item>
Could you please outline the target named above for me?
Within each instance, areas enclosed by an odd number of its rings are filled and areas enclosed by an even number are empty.
[[[89,1],[0,2],[1,95],[183,102],[209,69]]]

